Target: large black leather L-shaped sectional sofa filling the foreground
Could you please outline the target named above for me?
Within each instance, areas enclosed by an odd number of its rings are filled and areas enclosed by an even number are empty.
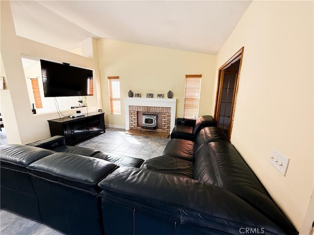
[[[144,163],[56,140],[1,146],[1,208],[74,235],[298,234],[217,127]]]

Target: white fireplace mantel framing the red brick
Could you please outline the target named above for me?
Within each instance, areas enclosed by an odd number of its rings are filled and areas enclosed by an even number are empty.
[[[130,129],[129,106],[170,107],[171,108],[170,132],[175,127],[176,112],[177,112],[177,99],[137,98],[137,97],[124,98],[126,130]]]

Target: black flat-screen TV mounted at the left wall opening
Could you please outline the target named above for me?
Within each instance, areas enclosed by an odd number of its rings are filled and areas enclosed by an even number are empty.
[[[93,95],[93,71],[40,60],[45,97]]]

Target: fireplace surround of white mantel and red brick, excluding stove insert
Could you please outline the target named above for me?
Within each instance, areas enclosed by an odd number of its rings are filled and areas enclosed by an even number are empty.
[[[162,117],[161,129],[157,130],[170,133],[175,126],[177,99],[172,98],[124,98],[126,130],[139,129],[138,113],[159,113]],[[160,118],[159,118],[160,119]]]

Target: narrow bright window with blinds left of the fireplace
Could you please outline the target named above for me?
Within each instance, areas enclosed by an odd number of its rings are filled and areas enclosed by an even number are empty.
[[[110,114],[121,114],[119,77],[108,77]]]

